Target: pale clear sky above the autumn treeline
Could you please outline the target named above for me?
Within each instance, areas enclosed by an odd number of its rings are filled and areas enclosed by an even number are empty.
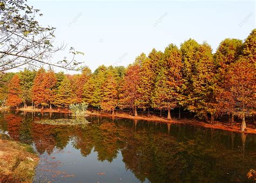
[[[245,39],[255,28],[255,1],[29,1],[39,22],[56,30],[62,42],[85,53],[79,61],[128,65],[142,52],[164,51],[189,38],[206,41],[215,52],[225,38]],[[67,49],[68,50],[68,49]],[[60,60],[65,51],[56,53]],[[59,71],[59,69],[56,69]],[[74,73],[66,71],[66,73]]]

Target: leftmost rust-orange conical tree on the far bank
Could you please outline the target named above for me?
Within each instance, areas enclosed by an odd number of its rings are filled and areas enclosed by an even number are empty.
[[[19,77],[17,74],[12,77],[8,85],[8,99],[6,105],[10,107],[18,107],[22,103],[22,99],[19,97],[21,94],[21,86],[19,85]]]

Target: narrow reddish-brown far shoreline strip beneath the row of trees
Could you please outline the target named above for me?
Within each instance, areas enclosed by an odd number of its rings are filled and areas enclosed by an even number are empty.
[[[0,108],[0,111],[4,110]],[[71,113],[69,110],[49,110],[49,109],[16,109],[17,111],[23,111],[23,112],[57,112],[57,113]],[[133,120],[147,120],[147,121],[157,121],[159,123],[171,123],[171,124],[188,124],[188,125],[193,125],[193,126],[201,126],[201,127],[206,127],[206,128],[214,128],[214,129],[219,129],[219,130],[226,130],[226,131],[233,131],[233,132],[238,132],[241,133],[240,131],[240,123],[234,123],[233,126],[230,126],[228,123],[221,123],[220,121],[215,121],[215,124],[210,124],[206,123],[204,121],[199,121],[196,119],[172,119],[172,120],[167,120],[163,117],[158,117],[158,116],[131,116],[130,114],[127,114],[125,112],[123,113],[114,113],[113,114],[108,114],[108,113],[97,113],[97,112],[91,112],[91,111],[86,111],[87,114],[92,115],[92,116],[103,116],[103,117],[117,117],[117,118],[126,118],[126,119],[133,119]],[[253,125],[246,125],[247,130],[244,133],[247,134],[256,134],[256,129],[255,127],[253,128]]]

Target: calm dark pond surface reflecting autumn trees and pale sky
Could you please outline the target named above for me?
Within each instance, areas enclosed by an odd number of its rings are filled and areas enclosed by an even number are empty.
[[[0,130],[40,157],[35,182],[234,182],[256,169],[256,135],[152,121],[86,117],[87,126],[33,123],[60,113],[0,113]]]

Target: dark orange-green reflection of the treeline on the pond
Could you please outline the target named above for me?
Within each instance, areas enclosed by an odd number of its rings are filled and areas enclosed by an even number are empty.
[[[256,168],[253,134],[97,116],[86,117],[91,122],[86,128],[32,123],[63,115],[1,113],[0,129],[34,144],[40,154],[63,150],[70,141],[83,157],[96,151],[98,161],[113,162],[120,152],[125,168],[139,181],[246,181],[248,170]]]

